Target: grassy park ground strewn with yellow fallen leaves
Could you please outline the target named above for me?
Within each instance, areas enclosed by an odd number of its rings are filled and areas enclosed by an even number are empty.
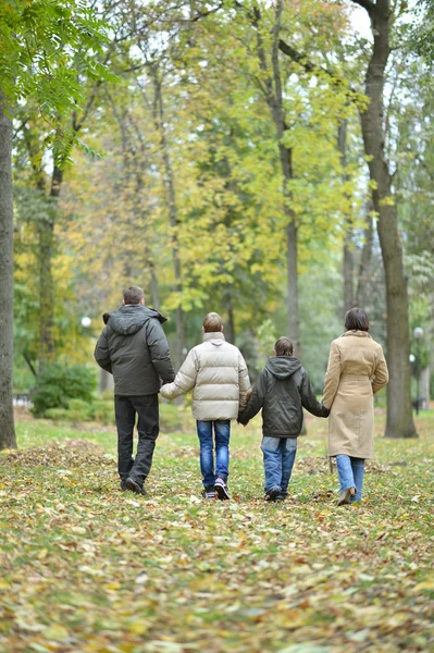
[[[262,498],[259,431],[233,428],[231,502],[200,498],[196,435],[161,435],[121,493],[114,430],[25,420],[0,454],[0,651],[434,651],[434,414],[376,429],[360,505],[336,507],[325,420],[290,498]]]

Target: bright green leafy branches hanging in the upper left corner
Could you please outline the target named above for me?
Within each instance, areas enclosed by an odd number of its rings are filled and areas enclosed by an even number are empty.
[[[85,101],[83,82],[114,79],[98,59],[106,25],[79,0],[5,0],[0,5],[1,89],[11,108],[30,100],[48,125],[46,145],[64,165],[77,143],[62,118]],[[13,112],[13,109],[12,109]]]

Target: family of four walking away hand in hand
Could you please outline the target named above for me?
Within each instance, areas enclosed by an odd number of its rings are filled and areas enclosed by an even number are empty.
[[[361,500],[364,460],[373,457],[373,394],[388,381],[383,349],[369,334],[364,310],[349,310],[346,332],[332,342],[321,403],[288,337],[277,340],[273,356],[251,390],[243,355],[226,342],[216,312],[206,316],[203,342],[193,347],[176,375],[161,325],[166,320],[145,306],[141,288],[131,286],[124,291],[123,305],[104,313],[103,320],[106,326],[95,358],[114,378],[122,490],[146,494],[144,483],[159,434],[158,393],[173,399],[193,391],[204,498],[230,498],[231,421],[247,426],[262,409],[265,500],[285,500],[305,408],[317,417],[330,417],[328,456],[337,463],[338,505]],[[134,457],[136,418],[138,443]]]

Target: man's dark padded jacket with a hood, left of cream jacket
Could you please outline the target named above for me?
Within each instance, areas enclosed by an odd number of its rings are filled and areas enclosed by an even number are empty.
[[[140,304],[121,306],[104,313],[106,328],[95,348],[98,365],[114,378],[114,394],[139,396],[157,394],[160,379],[172,383],[175,371],[163,318],[153,308]]]

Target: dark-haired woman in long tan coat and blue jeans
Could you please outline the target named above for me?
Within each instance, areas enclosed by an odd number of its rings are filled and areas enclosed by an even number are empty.
[[[346,333],[333,341],[330,349],[322,398],[331,409],[328,456],[336,457],[338,506],[361,500],[364,459],[373,457],[373,395],[388,381],[382,346],[368,333],[364,310],[349,310],[345,329]]]

